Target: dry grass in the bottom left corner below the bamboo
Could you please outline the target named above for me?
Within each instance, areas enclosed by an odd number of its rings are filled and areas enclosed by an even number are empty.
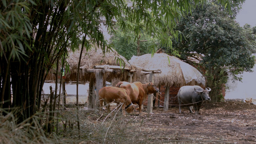
[[[39,116],[33,116],[17,124],[12,112],[0,116],[0,144],[63,144],[55,134],[46,136],[39,124]]]

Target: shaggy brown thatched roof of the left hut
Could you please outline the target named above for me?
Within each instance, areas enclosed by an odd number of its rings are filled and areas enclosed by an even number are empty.
[[[69,58],[67,59],[68,64],[70,65],[70,72],[66,73],[67,81],[76,81],[77,75],[77,66],[80,56],[80,50],[75,52],[70,52]],[[117,59],[123,60],[124,63],[119,63]],[[89,69],[94,69],[96,65],[115,65],[115,66],[125,66],[131,69],[136,69],[129,64],[129,62],[121,55],[117,53],[114,49],[106,51],[105,55],[103,54],[102,49],[92,48],[89,51],[84,50],[81,58],[80,64],[80,82],[88,82],[91,78],[95,78],[95,73],[88,72]],[[114,72],[106,72],[104,74],[105,81],[127,81],[128,71],[114,70]]]

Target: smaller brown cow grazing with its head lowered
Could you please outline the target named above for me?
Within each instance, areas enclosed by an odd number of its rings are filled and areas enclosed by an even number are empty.
[[[101,88],[98,91],[98,96],[99,96],[100,107],[103,106],[103,101],[105,101],[107,104],[108,113],[110,113],[109,103],[111,102],[114,102],[117,104],[123,103],[121,109],[122,109],[122,114],[124,116],[125,116],[125,110],[128,113],[134,112],[134,106],[129,97],[129,92],[123,88],[106,86]]]

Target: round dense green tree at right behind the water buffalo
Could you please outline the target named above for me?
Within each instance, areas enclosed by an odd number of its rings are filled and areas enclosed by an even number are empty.
[[[237,11],[238,9],[233,9]],[[252,72],[255,57],[256,37],[249,26],[240,27],[235,22],[235,13],[223,11],[223,7],[206,2],[182,18],[176,30],[181,38],[173,41],[183,60],[194,58],[206,70],[207,86],[212,88],[214,102],[222,97],[220,89],[228,78],[241,80],[239,74]]]

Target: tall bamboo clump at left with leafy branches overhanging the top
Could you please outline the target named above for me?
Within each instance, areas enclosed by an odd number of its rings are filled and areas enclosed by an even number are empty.
[[[109,30],[116,19],[136,36],[144,26],[148,34],[171,45],[176,20],[199,1],[205,0],[1,0],[1,108],[18,108],[19,120],[29,118],[40,108],[49,70],[69,49],[98,45],[108,50],[100,30],[102,19]],[[230,8],[233,0],[219,1]]]

